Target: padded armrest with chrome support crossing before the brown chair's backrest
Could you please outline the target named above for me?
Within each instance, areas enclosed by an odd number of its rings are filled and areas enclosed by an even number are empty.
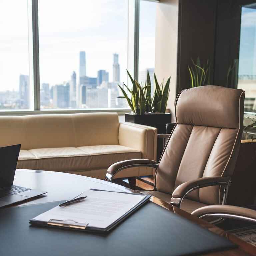
[[[180,207],[184,197],[191,191],[209,186],[222,186],[224,188],[222,204],[226,203],[228,187],[231,185],[230,177],[204,177],[187,181],[179,185],[172,193],[171,205]]]

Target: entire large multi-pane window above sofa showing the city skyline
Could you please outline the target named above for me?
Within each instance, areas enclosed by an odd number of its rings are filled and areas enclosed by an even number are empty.
[[[127,111],[126,69],[154,71],[156,2],[1,0],[1,113]]]

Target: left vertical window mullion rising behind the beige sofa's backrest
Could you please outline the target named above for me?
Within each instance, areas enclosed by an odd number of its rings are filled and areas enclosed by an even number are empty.
[[[34,109],[40,110],[38,0],[32,1]]]

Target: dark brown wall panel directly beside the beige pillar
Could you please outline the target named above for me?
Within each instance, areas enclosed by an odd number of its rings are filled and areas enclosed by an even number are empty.
[[[177,94],[190,88],[188,65],[199,56],[214,65],[217,0],[180,0]]]

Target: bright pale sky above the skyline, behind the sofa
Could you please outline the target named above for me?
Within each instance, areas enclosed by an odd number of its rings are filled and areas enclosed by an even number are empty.
[[[33,74],[27,3],[0,0],[4,6],[0,8],[0,91],[18,90],[19,75]],[[156,3],[141,1],[142,70],[154,67],[155,10]],[[120,80],[126,79],[128,0],[39,0],[38,12],[40,83],[61,84],[71,79],[73,71],[78,78],[80,51],[86,52],[87,76],[96,77],[98,70],[105,69],[110,81],[113,54],[118,53]]]

